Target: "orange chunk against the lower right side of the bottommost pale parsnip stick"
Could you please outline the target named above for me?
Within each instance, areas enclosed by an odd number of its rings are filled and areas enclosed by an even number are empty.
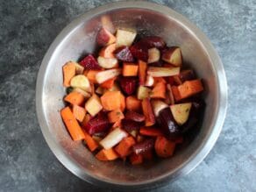
[[[126,157],[132,153],[131,147],[135,144],[135,140],[132,136],[124,138],[116,147],[115,151],[120,155],[120,157]]]

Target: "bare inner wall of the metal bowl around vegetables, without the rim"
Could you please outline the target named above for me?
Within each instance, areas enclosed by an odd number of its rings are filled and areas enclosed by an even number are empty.
[[[96,33],[101,27],[101,18],[108,16],[116,27],[134,28],[141,35],[158,35],[166,40],[169,46],[181,46],[183,60],[188,67],[196,71],[203,79],[206,89],[204,98],[207,103],[203,122],[196,137],[189,144],[181,146],[173,158],[146,163],[141,166],[130,166],[123,161],[101,162],[82,145],[74,142],[62,123],[60,109],[64,103],[62,98],[65,89],[62,87],[62,66],[68,60],[79,60],[86,53],[96,50]],[[64,32],[65,33],[65,32]],[[48,138],[60,146],[59,159],[68,156],[75,165],[67,165],[80,169],[83,179],[88,175],[110,183],[136,185],[158,180],[165,175],[172,175],[196,155],[196,150],[203,146],[213,129],[217,111],[217,78],[210,56],[196,34],[180,21],[165,16],[158,11],[140,8],[125,8],[103,12],[76,20],[66,29],[67,36],[58,37],[58,43],[48,54],[48,63],[42,82],[41,104],[46,119]],[[196,128],[196,129],[199,129]],[[70,164],[70,163],[69,163]],[[75,172],[73,170],[73,172]]]

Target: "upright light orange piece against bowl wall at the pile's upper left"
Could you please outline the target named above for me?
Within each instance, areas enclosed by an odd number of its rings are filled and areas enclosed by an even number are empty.
[[[71,79],[75,76],[75,63],[68,61],[63,67],[63,86],[68,88],[70,86]]]

